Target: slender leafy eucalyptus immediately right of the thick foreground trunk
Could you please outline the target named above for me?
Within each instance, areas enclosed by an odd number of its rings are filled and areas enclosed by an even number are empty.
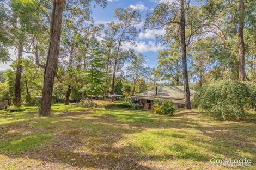
[[[75,76],[73,76],[73,74],[75,73],[75,67],[73,67],[73,64],[77,58],[77,55],[75,53],[79,43],[82,43],[81,36],[83,36],[83,34],[86,34],[83,33],[83,31],[85,27],[84,25],[87,21],[92,21],[88,6],[86,6],[86,9],[84,9],[83,5],[77,5],[76,7],[72,7],[72,3],[66,3],[65,11],[63,12],[62,23],[62,47],[64,49],[64,56],[68,55],[68,63],[66,65],[68,65],[67,72],[69,74],[66,80],[66,84],[68,87],[66,90],[66,97],[64,103],[65,105],[69,104],[71,87],[72,83],[75,80]]]

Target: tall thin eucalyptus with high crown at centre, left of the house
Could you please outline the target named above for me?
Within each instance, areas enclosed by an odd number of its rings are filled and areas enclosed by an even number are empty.
[[[118,35],[117,35],[117,48],[114,50],[114,63],[113,63],[113,77],[112,77],[112,87],[111,93],[114,93],[115,85],[115,74],[117,72],[118,62],[123,60],[121,52],[121,47],[124,42],[135,43],[135,38],[138,36],[138,30],[136,26],[141,23],[141,14],[138,10],[132,8],[117,8],[115,9],[115,18],[117,18],[118,24]],[[113,98],[112,98],[113,100]]]

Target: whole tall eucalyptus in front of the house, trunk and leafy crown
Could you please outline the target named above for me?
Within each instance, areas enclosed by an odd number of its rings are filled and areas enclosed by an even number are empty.
[[[191,108],[190,90],[187,71],[187,46],[199,36],[204,34],[201,32],[201,23],[204,18],[196,5],[190,4],[190,1],[184,3],[179,0],[178,3],[160,3],[153,11],[149,11],[145,21],[144,28],[164,29],[166,34],[159,36],[162,43],[170,43],[178,41],[181,47],[182,56],[182,74],[185,96],[185,107]],[[186,17],[186,18],[185,18]]]

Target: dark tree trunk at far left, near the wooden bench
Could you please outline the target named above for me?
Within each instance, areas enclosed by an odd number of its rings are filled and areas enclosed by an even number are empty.
[[[21,59],[22,59],[23,45],[18,47],[17,66],[16,66],[16,78],[15,78],[15,89],[14,89],[14,106],[21,106]]]

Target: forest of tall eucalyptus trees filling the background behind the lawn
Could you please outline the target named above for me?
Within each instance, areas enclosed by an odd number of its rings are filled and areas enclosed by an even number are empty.
[[[256,2],[243,0],[160,3],[141,20],[139,10],[115,9],[115,21],[94,24],[91,8],[107,1],[10,0],[0,2],[0,61],[17,58],[0,72],[0,100],[33,104],[42,95],[41,115],[51,100],[118,93],[133,96],[162,85],[183,85],[186,108],[189,87],[200,91],[214,81],[256,79]],[[144,30],[137,26],[143,23]],[[139,32],[155,35],[166,49],[156,57],[125,49],[136,46]],[[28,55],[23,58],[23,55]],[[189,86],[190,82],[194,82]]]

